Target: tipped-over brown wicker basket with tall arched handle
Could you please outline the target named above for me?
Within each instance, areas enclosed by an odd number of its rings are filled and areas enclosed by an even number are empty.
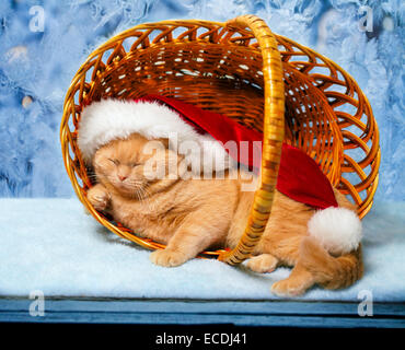
[[[60,140],[74,190],[94,218],[117,235],[164,248],[108,220],[88,201],[92,186],[77,145],[85,103],[160,94],[224,114],[264,132],[262,184],[233,250],[205,252],[229,264],[248,257],[269,218],[281,143],[310,154],[333,185],[372,206],[380,164],[379,131],[367,97],[329,59],[275,35],[254,15],[227,23],[165,21],[123,32],[94,50],[68,90]]]

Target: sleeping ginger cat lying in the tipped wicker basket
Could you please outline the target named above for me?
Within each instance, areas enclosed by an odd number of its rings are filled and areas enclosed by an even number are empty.
[[[152,155],[142,152],[147,142],[135,133],[96,151],[93,167],[97,184],[89,189],[89,201],[137,234],[165,244],[165,249],[150,256],[161,266],[178,266],[207,248],[233,248],[244,232],[254,191],[242,191],[241,176],[229,173],[222,179],[182,179],[187,171],[182,156],[169,166],[172,151],[167,148],[153,155],[166,176],[148,179],[146,163]],[[178,176],[167,176],[173,168]],[[337,190],[335,196],[339,207],[355,209]],[[287,279],[273,284],[275,294],[299,295],[314,284],[344,288],[362,275],[361,246],[333,256],[308,234],[308,221],[314,212],[276,191],[266,230],[247,261],[257,272],[293,266]]]

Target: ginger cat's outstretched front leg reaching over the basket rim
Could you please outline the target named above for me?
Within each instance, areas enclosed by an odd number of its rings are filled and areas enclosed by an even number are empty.
[[[152,262],[174,267],[186,262],[196,257],[200,252],[207,249],[215,243],[218,243],[216,235],[210,229],[198,225],[181,226],[163,250],[155,250],[150,255]]]

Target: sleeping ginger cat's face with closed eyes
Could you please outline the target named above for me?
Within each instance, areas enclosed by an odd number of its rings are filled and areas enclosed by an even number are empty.
[[[128,139],[114,140],[100,148],[94,155],[93,167],[97,180],[113,186],[119,194],[147,197],[150,185],[162,182],[167,175],[169,153],[164,140],[149,141],[131,135]]]

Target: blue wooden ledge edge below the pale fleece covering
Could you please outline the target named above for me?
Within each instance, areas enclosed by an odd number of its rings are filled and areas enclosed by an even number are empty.
[[[50,299],[33,317],[32,302],[0,299],[0,322],[405,328],[403,303],[374,303],[360,317],[357,303],[340,302]]]

